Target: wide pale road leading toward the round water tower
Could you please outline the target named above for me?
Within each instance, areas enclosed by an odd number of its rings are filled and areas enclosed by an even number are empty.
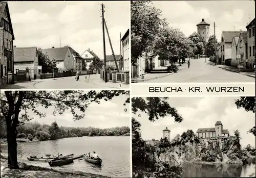
[[[163,78],[144,81],[143,83],[218,83],[218,82],[255,82],[255,78],[236,72],[221,69],[218,66],[212,66],[211,62],[205,63],[205,58],[190,60],[190,68],[187,64],[180,67],[177,73]]]

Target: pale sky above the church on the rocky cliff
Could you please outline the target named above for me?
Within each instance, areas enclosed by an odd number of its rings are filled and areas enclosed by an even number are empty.
[[[221,121],[223,129],[227,129],[230,135],[234,135],[234,130],[239,130],[242,147],[247,144],[255,146],[255,136],[247,134],[255,125],[255,114],[246,112],[243,108],[237,109],[234,104],[236,99],[238,97],[168,98],[170,106],[175,107],[184,119],[180,123],[174,122],[174,118],[170,116],[151,122],[147,114],[141,112],[133,114],[133,117],[141,123],[141,136],[145,140],[160,140],[166,127],[170,130],[172,140],[177,134],[181,135],[188,129],[196,133],[200,128],[214,128],[216,121]]]

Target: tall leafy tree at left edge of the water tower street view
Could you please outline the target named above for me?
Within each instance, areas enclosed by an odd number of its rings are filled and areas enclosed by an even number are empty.
[[[131,46],[132,65],[136,65],[144,52],[150,52],[160,32],[165,26],[161,11],[152,7],[151,1],[131,1]]]

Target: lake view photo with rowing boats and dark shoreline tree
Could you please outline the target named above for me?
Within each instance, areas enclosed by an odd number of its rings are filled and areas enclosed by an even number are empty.
[[[130,125],[129,91],[1,91],[1,177],[131,177]]]

